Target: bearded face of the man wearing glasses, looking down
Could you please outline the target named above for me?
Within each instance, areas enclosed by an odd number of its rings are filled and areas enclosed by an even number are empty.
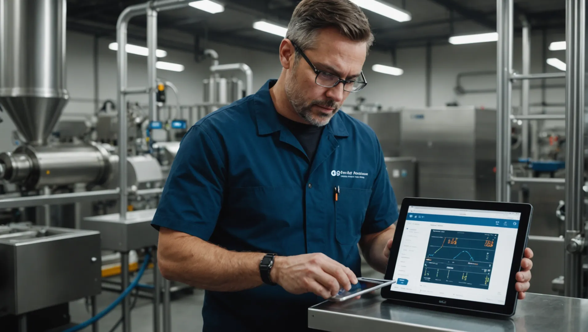
[[[336,29],[328,28],[319,32],[313,48],[304,50],[304,53],[319,71],[361,81],[360,72],[367,53],[364,42],[350,41]],[[325,88],[316,84],[315,78],[316,73],[299,56],[286,79],[286,96],[303,119],[311,125],[325,126],[343,105],[349,92],[343,90],[343,83]]]

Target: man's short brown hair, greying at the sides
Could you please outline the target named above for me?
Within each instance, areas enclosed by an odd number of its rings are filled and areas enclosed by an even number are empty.
[[[286,38],[304,51],[313,48],[320,29],[331,27],[352,41],[365,42],[368,51],[372,46],[373,34],[368,18],[349,0],[300,1],[288,24]]]

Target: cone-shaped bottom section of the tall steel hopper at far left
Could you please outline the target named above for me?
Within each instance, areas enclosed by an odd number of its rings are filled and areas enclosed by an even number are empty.
[[[22,138],[34,145],[45,142],[67,102],[67,98],[56,97],[0,96],[0,107],[8,113]]]

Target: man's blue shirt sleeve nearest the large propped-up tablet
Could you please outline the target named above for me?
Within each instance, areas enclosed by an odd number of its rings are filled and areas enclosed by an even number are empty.
[[[398,219],[398,204],[384,161],[384,154],[377,143],[377,174],[372,186],[372,196],[362,226],[362,234],[382,232]]]

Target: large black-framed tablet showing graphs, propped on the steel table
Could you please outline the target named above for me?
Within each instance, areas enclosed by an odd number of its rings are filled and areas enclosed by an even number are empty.
[[[406,198],[382,289],[386,299],[452,312],[515,314],[530,204]]]

